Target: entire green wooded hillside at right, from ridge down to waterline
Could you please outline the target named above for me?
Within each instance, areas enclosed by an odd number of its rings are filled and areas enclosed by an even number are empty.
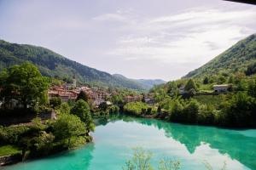
[[[256,127],[256,36],[237,42],[182,79],[149,92],[154,105],[133,102],[124,111],[170,122]]]

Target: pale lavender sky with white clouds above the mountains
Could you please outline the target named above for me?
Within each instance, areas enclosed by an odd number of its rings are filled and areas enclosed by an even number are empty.
[[[0,39],[166,81],[256,33],[255,20],[256,6],[221,0],[0,0]]]

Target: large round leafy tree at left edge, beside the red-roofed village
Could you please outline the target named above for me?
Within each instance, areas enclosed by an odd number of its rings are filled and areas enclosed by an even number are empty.
[[[2,71],[0,75],[0,96],[4,103],[17,100],[25,109],[42,104],[49,88],[47,78],[42,77],[35,65],[26,62]]]

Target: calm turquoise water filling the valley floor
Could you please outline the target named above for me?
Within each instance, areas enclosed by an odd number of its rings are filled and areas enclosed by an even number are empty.
[[[182,169],[256,169],[256,130],[181,125],[133,117],[101,120],[92,133],[94,142],[47,158],[26,161],[3,170],[121,170],[143,147],[154,154],[153,164],[168,157],[182,162]]]

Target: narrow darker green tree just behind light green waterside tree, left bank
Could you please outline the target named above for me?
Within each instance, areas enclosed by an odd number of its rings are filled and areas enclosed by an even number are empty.
[[[94,130],[95,125],[90,115],[90,106],[83,99],[79,99],[73,105],[70,113],[79,116],[81,121],[85,123],[87,133]]]

